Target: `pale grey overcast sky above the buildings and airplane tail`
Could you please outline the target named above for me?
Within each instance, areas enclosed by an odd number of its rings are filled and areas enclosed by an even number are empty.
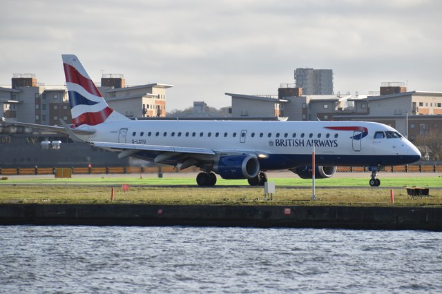
[[[61,54],[94,81],[172,84],[166,108],[276,95],[295,68],[331,68],[334,92],[442,91],[442,1],[2,0],[0,85],[13,73],[64,84]]]

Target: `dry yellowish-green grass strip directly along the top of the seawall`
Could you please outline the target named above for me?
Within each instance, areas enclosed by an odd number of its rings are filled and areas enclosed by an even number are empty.
[[[390,206],[390,188],[317,188],[311,200],[309,188],[278,188],[273,201],[264,200],[263,188],[114,188],[115,204],[209,205],[331,205]],[[410,199],[405,188],[394,189],[395,206],[442,206],[442,189],[430,188],[430,197]],[[111,204],[107,186],[2,186],[0,204]]]

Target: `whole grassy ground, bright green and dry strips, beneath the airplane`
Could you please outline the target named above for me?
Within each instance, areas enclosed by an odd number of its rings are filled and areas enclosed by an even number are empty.
[[[15,178],[0,181],[0,204],[110,204],[111,187],[115,187],[113,202],[115,204],[442,206],[440,177],[385,177],[381,178],[382,186],[376,188],[368,186],[366,177],[317,179],[316,197],[319,199],[314,201],[311,200],[311,188],[282,188],[282,186],[311,186],[311,180],[269,178],[269,181],[276,183],[273,201],[264,200],[264,189],[248,187],[245,180],[218,179],[217,186],[225,187],[199,188],[195,187],[195,179],[189,177]],[[129,184],[128,192],[122,191],[122,184]],[[188,187],[173,187],[174,185]],[[356,188],[336,188],[336,186]],[[403,186],[430,187],[430,197],[411,199],[407,197]],[[390,203],[389,187],[400,187],[394,188],[394,204]]]

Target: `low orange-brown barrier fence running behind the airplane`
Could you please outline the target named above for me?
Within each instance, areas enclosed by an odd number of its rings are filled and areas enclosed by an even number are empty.
[[[108,166],[108,167],[71,167],[72,175],[97,175],[97,174],[132,174],[132,173],[196,173],[196,167],[178,170],[173,166]],[[405,165],[385,166],[384,172],[389,173],[442,173],[442,165]],[[338,166],[337,173],[371,173],[363,166]],[[56,175],[57,168],[1,168],[0,175]]]

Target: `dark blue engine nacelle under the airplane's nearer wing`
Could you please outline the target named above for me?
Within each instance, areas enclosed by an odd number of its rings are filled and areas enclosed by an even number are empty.
[[[260,172],[260,162],[251,155],[222,156],[213,171],[223,179],[251,179]]]

